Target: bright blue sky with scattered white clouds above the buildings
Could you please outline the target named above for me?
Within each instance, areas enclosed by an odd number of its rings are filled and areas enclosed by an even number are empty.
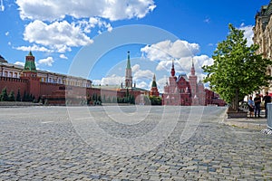
[[[137,85],[149,89],[152,74],[156,73],[161,90],[170,75],[172,60],[179,74],[189,73],[193,58],[199,78],[203,77],[200,67],[212,63],[211,55],[217,43],[226,38],[229,23],[244,29],[250,40],[255,14],[268,3],[269,0],[2,0],[0,54],[8,62],[22,64],[31,50],[39,69],[75,75],[81,75],[81,70],[73,70],[74,62],[92,62],[84,76],[95,84],[119,84],[130,51]],[[157,36],[158,42],[119,44],[103,50],[99,58],[88,54],[79,60],[82,52],[95,52],[92,47],[107,47],[109,42],[102,38],[105,34],[111,36],[117,28],[132,24],[159,28],[176,39],[143,32],[147,40]],[[130,41],[126,33],[114,38],[116,42],[125,38]]]

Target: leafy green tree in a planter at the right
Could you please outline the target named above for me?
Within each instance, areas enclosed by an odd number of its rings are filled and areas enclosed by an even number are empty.
[[[262,86],[267,86],[271,77],[267,75],[267,66],[272,62],[263,59],[256,51],[258,46],[248,47],[244,31],[228,25],[227,40],[218,43],[212,58],[212,65],[203,66],[208,72],[205,82],[210,83],[211,90],[219,93],[223,100],[231,103],[232,109],[238,111],[238,101]]]

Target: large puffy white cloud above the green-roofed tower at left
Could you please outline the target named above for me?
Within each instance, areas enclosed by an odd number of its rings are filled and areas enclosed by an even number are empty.
[[[79,26],[67,21],[44,24],[35,20],[27,24],[24,30],[24,40],[50,46],[57,52],[71,51],[71,46],[83,46],[92,40],[82,32]]]

